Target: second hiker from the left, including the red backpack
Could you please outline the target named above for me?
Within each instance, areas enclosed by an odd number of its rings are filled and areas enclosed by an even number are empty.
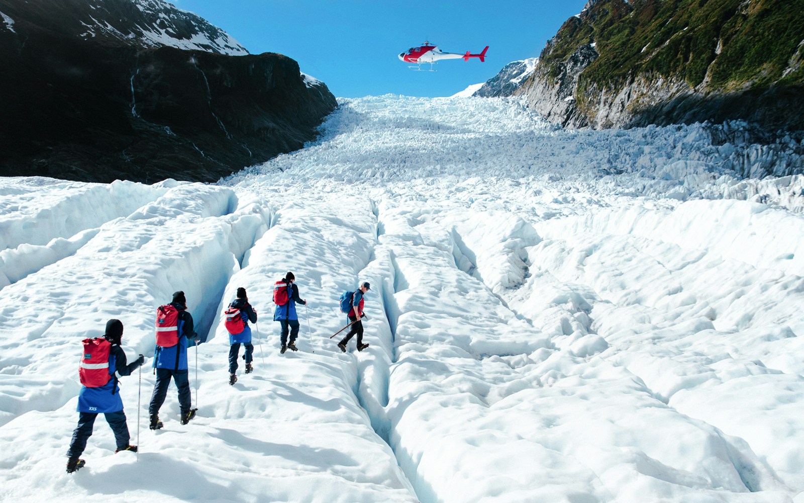
[[[187,424],[195,418],[195,409],[191,409],[190,381],[187,375],[187,344],[198,344],[198,334],[193,331],[193,317],[187,312],[187,299],[183,291],[173,294],[173,301],[157,310],[156,349],[154,350],[154,367],[156,385],[151,395],[148,413],[150,429],[158,430],[165,426],[159,420],[159,408],[165,402],[170,378],[178,388],[178,406],[182,411],[181,423]]]

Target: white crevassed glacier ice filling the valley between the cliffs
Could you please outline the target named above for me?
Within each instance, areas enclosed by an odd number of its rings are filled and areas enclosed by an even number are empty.
[[[0,179],[3,501],[804,502],[801,175],[742,179],[777,157],[699,125],[339,102],[317,142],[215,184]],[[281,355],[288,270],[310,305]],[[359,281],[371,345],[344,354]],[[230,386],[237,287],[259,320]],[[138,455],[99,420],[65,473],[80,340],[117,318],[153,356],[177,290],[198,417],[171,390],[145,427],[146,363],[121,380]]]

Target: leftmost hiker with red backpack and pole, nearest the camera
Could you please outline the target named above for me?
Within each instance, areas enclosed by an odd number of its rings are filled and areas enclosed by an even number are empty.
[[[106,423],[114,432],[117,450],[137,452],[137,446],[129,440],[129,426],[125,423],[123,401],[117,377],[131,375],[146,357],[140,355],[127,365],[125,352],[120,347],[123,338],[123,324],[120,320],[106,322],[103,339],[84,339],[84,357],[81,358],[81,390],[78,394],[78,427],[72,432],[70,448],[67,451],[67,472],[72,473],[84,466],[79,459],[87,440],[92,435],[92,426],[98,414],[104,414]]]

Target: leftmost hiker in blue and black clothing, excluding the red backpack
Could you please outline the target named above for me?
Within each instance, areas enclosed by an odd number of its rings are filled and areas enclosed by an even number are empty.
[[[129,427],[125,423],[125,412],[123,412],[123,401],[120,398],[120,386],[117,385],[117,378],[131,375],[137,367],[142,365],[146,357],[140,355],[137,360],[127,365],[125,352],[120,347],[123,338],[123,324],[120,320],[109,320],[106,323],[104,338],[111,344],[108,364],[84,364],[82,360],[81,365],[82,368],[91,369],[90,372],[103,372],[107,376],[104,377],[104,381],[109,376],[112,378],[105,385],[97,387],[81,386],[77,407],[79,412],[78,427],[72,432],[70,448],[67,451],[68,473],[75,472],[84,466],[84,460],[79,458],[87,447],[87,440],[92,435],[92,427],[98,414],[104,414],[109,427],[112,427],[114,439],[117,443],[115,452],[137,451],[136,445],[129,444],[131,437]],[[105,365],[108,365],[108,375]],[[103,370],[101,371],[100,368],[103,368]]]

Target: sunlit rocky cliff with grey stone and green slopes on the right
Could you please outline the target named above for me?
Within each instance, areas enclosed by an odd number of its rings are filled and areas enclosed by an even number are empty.
[[[594,128],[740,119],[804,129],[804,9],[779,0],[592,0],[515,91]]]

